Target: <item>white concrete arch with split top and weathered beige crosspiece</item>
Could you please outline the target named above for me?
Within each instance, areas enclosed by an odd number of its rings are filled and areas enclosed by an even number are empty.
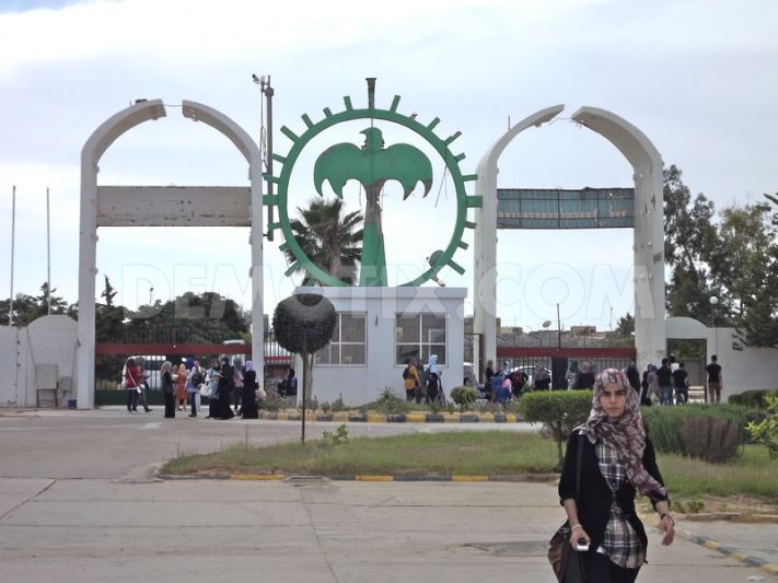
[[[185,117],[201,120],[227,136],[248,162],[248,202],[251,207],[251,245],[252,245],[252,333],[259,341],[252,343],[256,370],[263,371],[263,225],[262,225],[262,158],[259,149],[252,138],[237,124],[224,114],[206,105],[184,101],[182,113]],[[92,132],[81,151],[81,224],[79,233],[79,324],[78,324],[78,403],[80,408],[94,407],[94,350],[95,350],[95,276],[96,244],[98,226],[98,202],[101,197],[121,196],[127,187],[97,187],[98,162],[105,151],[129,129],[144,121],[165,117],[165,107],[161,100],[140,102],[105,120]],[[218,187],[222,194],[235,199],[245,198],[241,188]],[[155,197],[163,191],[161,187],[129,187],[141,195]],[[176,189],[176,198],[190,197],[193,202],[202,205],[202,188],[184,187]],[[137,219],[136,225],[148,221],[148,213],[123,209],[123,218]],[[133,214],[135,213],[135,214]],[[101,215],[101,219],[105,217]],[[222,218],[224,225],[233,225],[234,218]],[[109,221],[103,224],[112,224]],[[153,224],[153,223],[146,223]],[[219,224],[219,223],[209,223]],[[263,378],[258,378],[262,383]]]

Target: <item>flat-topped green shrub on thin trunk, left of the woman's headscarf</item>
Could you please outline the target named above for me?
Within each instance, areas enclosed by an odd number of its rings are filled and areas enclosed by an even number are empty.
[[[559,467],[562,465],[562,442],[583,423],[592,410],[592,390],[537,390],[519,401],[519,410],[530,423],[546,423],[557,442]]]

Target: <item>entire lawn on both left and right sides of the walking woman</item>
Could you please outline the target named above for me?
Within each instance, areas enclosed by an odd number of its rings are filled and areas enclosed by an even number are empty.
[[[778,505],[778,462],[763,445],[746,445],[728,464],[709,464],[677,454],[658,454],[674,504],[697,505],[702,498],[743,497]],[[162,474],[285,474],[307,476],[518,475],[554,473],[556,444],[534,433],[456,431],[390,438],[350,438],[283,443],[268,447],[232,445],[211,454],[179,455]]]

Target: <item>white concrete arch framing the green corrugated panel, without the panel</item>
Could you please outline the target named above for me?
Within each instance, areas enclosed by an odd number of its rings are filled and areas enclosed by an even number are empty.
[[[481,158],[476,193],[474,331],[481,335],[486,360],[497,361],[497,175],[506,147],[530,127],[556,117],[564,105],[541,109],[503,133]],[[665,352],[664,215],[662,158],[651,141],[631,124],[605,109],[581,107],[572,119],[596,131],[627,159],[635,179],[635,343],[639,363],[659,362]]]

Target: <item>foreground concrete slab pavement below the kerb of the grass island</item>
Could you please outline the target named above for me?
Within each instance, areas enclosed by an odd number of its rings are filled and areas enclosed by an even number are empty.
[[[3,583],[550,583],[545,549],[562,520],[539,483],[0,479],[0,490]],[[683,538],[661,547],[651,527],[649,539],[645,581],[770,578]]]

